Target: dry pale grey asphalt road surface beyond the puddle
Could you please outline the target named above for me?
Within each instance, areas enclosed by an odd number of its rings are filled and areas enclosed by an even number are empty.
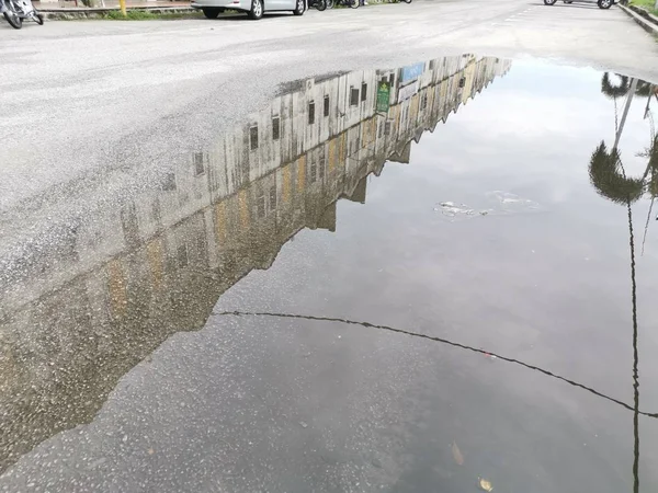
[[[0,211],[10,215],[90,172],[121,175],[117,167],[134,172],[205,148],[277,84],[308,76],[475,53],[658,79],[658,45],[623,12],[536,0],[0,31]]]

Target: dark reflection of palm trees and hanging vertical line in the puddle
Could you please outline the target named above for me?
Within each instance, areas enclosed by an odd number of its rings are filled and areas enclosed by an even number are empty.
[[[628,244],[631,249],[631,300],[632,300],[632,326],[633,326],[633,436],[634,436],[634,457],[633,457],[633,491],[639,491],[639,375],[637,356],[637,283],[635,276],[635,234],[633,231],[633,209],[632,204],[648,194],[651,198],[651,206],[647,214],[645,225],[646,231],[649,225],[649,218],[653,210],[654,200],[658,193],[658,134],[654,128],[654,115],[651,113],[651,100],[655,96],[658,100],[658,87],[648,82],[625,76],[617,76],[619,83],[611,82],[610,74],[606,72],[601,79],[601,92],[614,101],[615,107],[615,138],[614,145],[608,151],[604,141],[592,153],[590,159],[589,172],[590,180],[597,192],[603,197],[626,206],[628,213]],[[644,154],[647,158],[647,165],[642,177],[629,177],[622,162],[619,150],[620,140],[624,133],[624,125],[628,115],[628,110],[633,99],[638,96],[647,98],[644,113],[645,119],[650,122],[649,146]],[[621,122],[617,118],[616,99],[625,96],[626,101],[622,113]],[[643,240],[644,252],[644,240]]]

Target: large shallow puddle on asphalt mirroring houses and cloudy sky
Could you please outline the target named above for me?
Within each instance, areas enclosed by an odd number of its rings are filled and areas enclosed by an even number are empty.
[[[26,211],[0,491],[601,493],[637,461],[655,491],[653,88],[473,55],[338,72],[118,204]]]

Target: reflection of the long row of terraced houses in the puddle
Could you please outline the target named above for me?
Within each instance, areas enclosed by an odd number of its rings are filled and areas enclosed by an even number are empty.
[[[409,162],[413,140],[509,66],[460,56],[291,83],[159,187],[7,261],[0,471],[90,421],[125,372],[202,328],[222,293],[297,231],[334,231],[338,199],[365,202],[368,174]]]

